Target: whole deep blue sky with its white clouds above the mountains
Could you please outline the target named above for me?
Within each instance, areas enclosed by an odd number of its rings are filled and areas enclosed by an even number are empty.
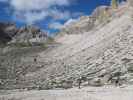
[[[0,21],[13,21],[17,26],[34,24],[55,32],[70,19],[109,4],[110,0],[0,0]]]

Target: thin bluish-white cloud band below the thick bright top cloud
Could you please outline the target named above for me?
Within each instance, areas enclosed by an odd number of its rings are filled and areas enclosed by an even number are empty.
[[[27,11],[27,12],[19,12],[15,11],[14,12],[14,17],[17,20],[27,22],[28,24],[34,24],[37,21],[41,21],[47,17],[52,17],[53,20],[68,20],[72,17],[71,13],[69,11],[59,11],[59,10],[52,10],[52,9],[47,9],[46,11]]]

